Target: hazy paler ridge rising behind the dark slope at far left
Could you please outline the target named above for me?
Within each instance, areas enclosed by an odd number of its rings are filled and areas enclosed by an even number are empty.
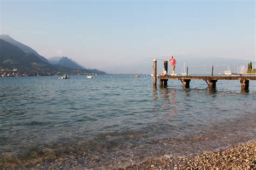
[[[21,42],[16,41],[15,39],[11,38],[9,35],[0,35],[0,39],[9,42],[12,45],[17,46],[18,48],[22,49],[25,53],[33,53],[37,56],[38,59],[49,63],[49,61],[47,59],[45,59],[42,55],[39,55],[35,50],[33,50],[32,48],[30,48],[27,45],[22,44]]]

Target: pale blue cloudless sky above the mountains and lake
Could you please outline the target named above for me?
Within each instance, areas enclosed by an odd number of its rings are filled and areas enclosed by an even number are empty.
[[[0,9],[0,34],[107,73],[170,55],[256,61],[255,1],[0,0]]]

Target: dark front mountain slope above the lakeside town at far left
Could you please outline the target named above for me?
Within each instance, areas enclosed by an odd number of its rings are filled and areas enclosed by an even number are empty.
[[[0,39],[0,65],[15,67],[48,66],[33,53],[25,53],[22,49]]]

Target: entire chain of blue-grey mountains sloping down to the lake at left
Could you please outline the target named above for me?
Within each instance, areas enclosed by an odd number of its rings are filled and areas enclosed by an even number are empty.
[[[97,69],[86,69],[68,57],[53,57],[50,61],[51,63],[29,46],[10,36],[0,35],[0,70],[2,73],[18,69],[19,73],[28,75],[106,74]]]

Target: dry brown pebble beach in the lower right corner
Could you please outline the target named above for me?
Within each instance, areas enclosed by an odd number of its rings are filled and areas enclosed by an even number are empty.
[[[164,157],[145,161],[127,169],[256,169],[256,141],[241,143],[215,152],[188,157]]]

